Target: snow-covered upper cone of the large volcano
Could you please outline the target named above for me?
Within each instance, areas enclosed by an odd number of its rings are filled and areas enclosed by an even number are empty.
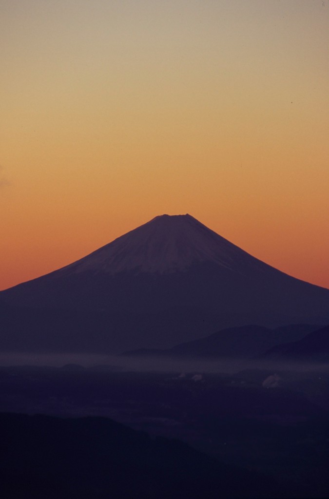
[[[68,265],[65,272],[163,274],[201,262],[232,268],[244,254],[191,215],[162,215]]]

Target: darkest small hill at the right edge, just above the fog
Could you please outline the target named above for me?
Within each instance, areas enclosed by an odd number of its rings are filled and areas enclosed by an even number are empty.
[[[262,357],[329,362],[329,326],[317,329],[298,341],[276,345],[265,352]]]

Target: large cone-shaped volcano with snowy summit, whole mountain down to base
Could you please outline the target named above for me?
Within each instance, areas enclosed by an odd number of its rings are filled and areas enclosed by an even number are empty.
[[[328,289],[267,265],[190,215],[156,217],[70,265],[1,291],[0,301],[2,345],[10,349],[24,343],[34,350],[40,343],[33,338],[42,337],[46,350],[57,341],[65,351],[122,352],[169,348],[225,327],[329,322]]]

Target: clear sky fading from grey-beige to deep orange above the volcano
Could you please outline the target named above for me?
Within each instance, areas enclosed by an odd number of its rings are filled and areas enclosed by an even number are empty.
[[[2,0],[0,289],[189,213],[329,287],[328,0]]]

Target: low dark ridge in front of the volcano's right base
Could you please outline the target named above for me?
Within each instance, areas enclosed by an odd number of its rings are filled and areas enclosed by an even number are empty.
[[[175,358],[244,358],[258,357],[283,341],[299,340],[319,326],[291,324],[275,329],[249,325],[230,327],[166,350],[140,349],[125,352],[128,356],[155,356]]]

